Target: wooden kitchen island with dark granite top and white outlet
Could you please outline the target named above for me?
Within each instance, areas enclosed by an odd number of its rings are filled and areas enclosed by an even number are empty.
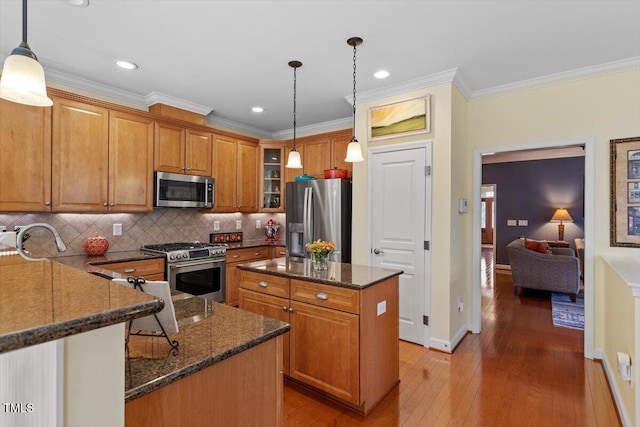
[[[361,413],[399,382],[401,270],[276,258],[238,266],[240,308],[291,324],[290,381]]]

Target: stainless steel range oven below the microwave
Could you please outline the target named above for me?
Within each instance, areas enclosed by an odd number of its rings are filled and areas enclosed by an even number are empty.
[[[182,242],[145,245],[142,251],[165,255],[171,289],[217,302],[225,301],[225,247]]]

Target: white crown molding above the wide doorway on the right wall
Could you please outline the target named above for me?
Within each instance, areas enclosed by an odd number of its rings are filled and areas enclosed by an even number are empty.
[[[564,71],[562,73],[550,74],[548,76],[536,77],[534,79],[522,80],[516,83],[494,86],[487,89],[473,91],[468,100],[478,100],[505,95],[527,89],[539,88],[542,86],[566,83],[573,80],[582,80],[596,77],[602,74],[610,74],[621,71],[628,71],[640,68],[640,56],[622,59],[620,61],[607,62],[591,67],[578,68],[576,70]]]

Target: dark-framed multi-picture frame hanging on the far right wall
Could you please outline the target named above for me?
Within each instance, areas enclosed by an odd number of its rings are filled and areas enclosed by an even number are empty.
[[[640,248],[640,136],[609,144],[610,245]]]

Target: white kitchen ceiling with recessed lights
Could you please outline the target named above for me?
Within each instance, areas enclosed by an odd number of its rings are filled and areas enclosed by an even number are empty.
[[[162,101],[256,134],[349,123],[360,94],[456,70],[468,98],[587,67],[640,63],[640,0],[29,2],[29,44],[50,82]],[[0,59],[21,40],[21,1],[0,0]],[[137,63],[121,70],[116,59]],[[377,80],[373,73],[391,76]],[[450,75],[450,74],[447,74]],[[265,108],[262,114],[251,107]]]

